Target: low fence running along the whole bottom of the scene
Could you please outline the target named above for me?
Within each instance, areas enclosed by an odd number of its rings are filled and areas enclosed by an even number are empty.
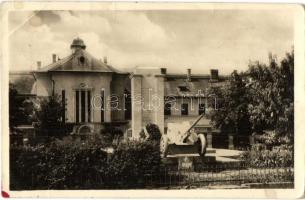
[[[11,177],[13,178],[13,177]],[[294,169],[291,167],[251,168],[240,163],[202,165],[194,171],[164,168],[158,173],[144,172],[139,176],[94,176],[79,174],[70,183],[48,188],[41,186],[39,177],[31,174],[26,186],[15,184],[12,190],[35,189],[190,189],[190,188],[293,188]],[[16,184],[18,186],[16,187]],[[20,185],[21,184],[21,185]],[[12,185],[11,185],[12,186]],[[24,188],[26,187],[26,188]]]

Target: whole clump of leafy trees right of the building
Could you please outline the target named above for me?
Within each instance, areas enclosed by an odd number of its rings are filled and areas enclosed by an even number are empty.
[[[279,64],[271,59],[268,65],[255,62],[244,73],[233,72],[223,86],[209,91],[220,99],[218,110],[210,113],[212,123],[224,132],[274,131],[276,137],[293,138],[293,70],[292,51]]]

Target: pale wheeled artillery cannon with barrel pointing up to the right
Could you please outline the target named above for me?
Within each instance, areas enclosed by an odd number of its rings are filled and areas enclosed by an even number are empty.
[[[196,151],[192,153],[198,153],[200,156],[204,156],[207,148],[206,137],[204,134],[196,133],[194,130],[194,127],[202,117],[203,114],[193,124],[189,122],[168,123],[167,134],[163,134],[160,140],[161,157],[166,157],[168,149],[173,146],[177,148],[189,146],[191,149],[194,149],[193,151]]]

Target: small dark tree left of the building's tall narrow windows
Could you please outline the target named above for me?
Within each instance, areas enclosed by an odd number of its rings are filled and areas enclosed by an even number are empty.
[[[63,106],[58,95],[52,95],[40,102],[36,111],[38,129],[46,136],[62,136],[64,123],[62,121]]]

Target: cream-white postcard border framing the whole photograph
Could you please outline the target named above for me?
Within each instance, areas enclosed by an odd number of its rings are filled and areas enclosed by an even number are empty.
[[[10,197],[103,198],[299,198],[304,194],[304,9],[293,4],[118,3],[118,2],[5,2],[2,14],[2,190]],[[8,140],[8,12],[16,10],[148,10],[148,9],[280,9],[295,13],[295,189],[236,190],[48,190],[9,191]]]

